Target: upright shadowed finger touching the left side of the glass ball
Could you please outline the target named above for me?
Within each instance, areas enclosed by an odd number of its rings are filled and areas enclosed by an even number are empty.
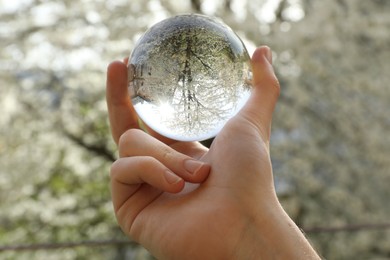
[[[127,92],[127,66],[121,61],[112,62],[107,68],[106,100],[115,143],[131,128],[139,128],[138,116]]]

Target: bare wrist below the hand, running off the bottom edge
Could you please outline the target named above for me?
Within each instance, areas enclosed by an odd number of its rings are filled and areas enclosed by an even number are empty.
[[[237,259],[320,259],[301,230],[275,200],[246,221]]]

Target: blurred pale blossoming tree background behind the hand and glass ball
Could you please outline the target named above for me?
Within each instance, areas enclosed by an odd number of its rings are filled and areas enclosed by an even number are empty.
[[[113,215],[105,73],[179,13],[272,48],[275,185],[319,253],[390,259],[387,0],[0,0],[0,258],[150,258]]]

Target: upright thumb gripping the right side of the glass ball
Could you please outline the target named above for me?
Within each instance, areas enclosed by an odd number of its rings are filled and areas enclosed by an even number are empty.
[[[279,81],[272,67],[272,52],[259,47],[252,55],[252,94],[240,114],[253,123],[265,141],[269,141],[272,114],[280,93]]]

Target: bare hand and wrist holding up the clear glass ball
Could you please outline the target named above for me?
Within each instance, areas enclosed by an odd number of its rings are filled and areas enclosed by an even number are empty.
[[[107,72],[122,230],[158,259],[319,259],[274,189],[269,141],[280,88],[270,49],[254,52],[252,95],[209,150],[140,130],[125,63]]]

